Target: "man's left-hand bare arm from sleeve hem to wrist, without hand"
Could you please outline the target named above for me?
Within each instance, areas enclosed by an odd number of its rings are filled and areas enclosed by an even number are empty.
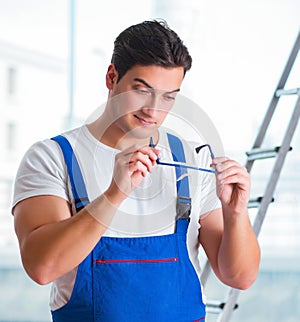
[[[115,208],[104,196],[93,206],[106,217],[114,215]],[[47,284],[76,267],[106,230],[105,224],[85,208],[71,217],[68,202],[55,196],[20,202],[14,217],[24,268],[39,284]]]

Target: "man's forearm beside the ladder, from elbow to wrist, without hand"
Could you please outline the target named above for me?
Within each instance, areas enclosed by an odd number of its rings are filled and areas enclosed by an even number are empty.
[[[240,289],[255,280],[260,250],[248,212],[228,214],[223,209],[224,231],[218,253],[218,268],[224,283]]]

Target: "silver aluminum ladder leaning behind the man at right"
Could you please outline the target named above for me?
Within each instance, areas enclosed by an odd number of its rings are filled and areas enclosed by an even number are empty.
[[[273,165],[273,169],[271,170],[270,177],[265,186],[265,191],[263,193],[263,197],[257,197],[255,199],[250,199],[248,208],[257,208],[257,213],[255,219],[253,221],[253,230],[256,236],[259,235],[262,224],[264,222],[269,204],[274,201],[273,194],[276,189],[276,185],[284,165],[284,161],[287,153],[292,150],[290,143],[294,136],[299,116],[300,116],[300,88],[294,89],[285,89],[285,85],[290,76],[291,70],[296,61],[297,55],[300,50],[300,30],[298,32],[298,36],[296,37],[296,41],[290,53],[290,56],[287,60],[283,73],[280,77],[277,87],[275,88],[273,97],[261,124],[261,127],[258,131],[258,134],[255,138],[253,147],[250,151],[246,152],[247,161],[245,167],[248,172],[251,172],[253,164],[256,160],[266,159],[266,158],[274,158],[275,162]],[[266,137],[267,129],[271,123],[273,115],[275,113],[276,107],[280,98],[284,95],[296,95],[296,104],[293,109],[292,115],[290,117],[290,121],[286,128],[284,137],[282,139],[282,143],[280,146],[264,149],[262,148],[262,143]],[[203,272],[201,274],[201,283],[205,288],[205,284],[208,280],[209,274],[211,272],[211,267],[208,261],[204,266]],[[207,302],[207,311],[209,313],[217,313],[218,322],[228,322],[232,316],[233,311],[238,307],[237,299],[239,296],[240,290],[230,288],[227,294],[227,299],[225,302],[218,301],[208,301]]]

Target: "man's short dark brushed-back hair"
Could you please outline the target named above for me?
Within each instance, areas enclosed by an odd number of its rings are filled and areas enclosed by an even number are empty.
[[[111,63],[118,81],[135,65],[191,68],[192,58],[178,35],[165,21],[144,21],[133,25],[116,38]]]

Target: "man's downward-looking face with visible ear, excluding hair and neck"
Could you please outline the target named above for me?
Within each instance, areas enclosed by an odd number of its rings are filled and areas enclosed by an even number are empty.
[[[108,69],[110,113],[120,135],[149,138],[156,133],[174,104],[184,76],[182,67],[136,65],[117,83]],[[117,133],[116,133],[117,134]]]

